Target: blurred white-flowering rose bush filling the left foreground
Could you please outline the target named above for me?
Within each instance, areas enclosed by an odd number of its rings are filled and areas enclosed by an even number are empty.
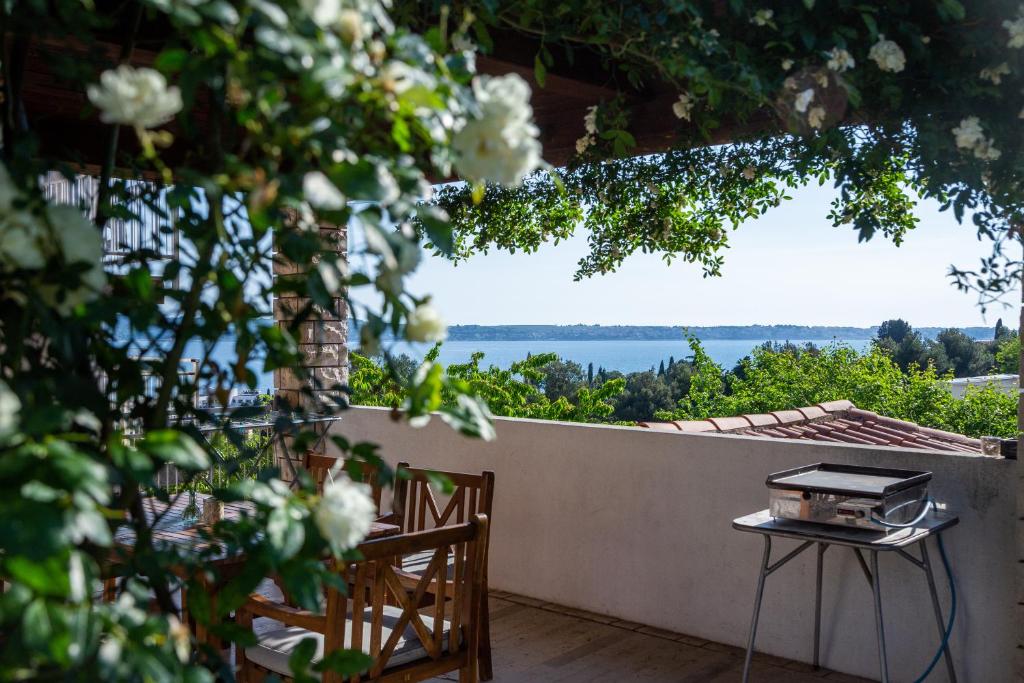
[[[0,678],[230,679],[176,616],[179,589],[198,625],[245,644],[224,617],[263,577],[316,609],[336,581],[322,560],[354,556],[377,514],[366,487],[338,472],[317,494],[285,453],[266,467],[264,442],[228,422],[253,409],[225,415],[197,395],[226,402],[258,371],[289,370],[303,389],[274,427],[301,459],[316,438],[304,418],[346,405],[346,387],[303,369],[300,342],[331,325],[325,312],[368,321],[368,346],[444,336],[428,298],[407,290],[419,241],[451,242],[428,179],[514,185],[541,163],[525,82],[477,76],[465,40],[453,48],[460,36],[399,28],[389,11],[374,0],[0,6]],[[106,125],[80,140],[102,150],[94,184],[77,176],[79,150],[49,156],[57,131],[22,116],[12,83],[25,65],[7,57],[30,43],[77,89],[82,116]],[[339,253],[332,226],[365,246]],[[379,304],[350,298],[360,289]],[[268,325],[271,298],[302,303]],[[226,362],[212,354],[225,339]],[[186,347],[200,349],[195,373],[182,372]],[[401,380],[414,424],[436,410],[493,435],[466,383],[433,366]],[[453,399],[440,404],[442,391]],[[221,435],[206,440],[203,422]],[[389,480],[373,444],[332,438]],[[183,478],[174,489],[160,485],[167,467]],[[202,531],[209,550],[156,544],[144,497],[200,487],[252,514]],[[244,570],[217,575],[215,553],[244,554]],[[216,604],[207,580],[222,584]],[[319,668],[366,664],[352,653]]]

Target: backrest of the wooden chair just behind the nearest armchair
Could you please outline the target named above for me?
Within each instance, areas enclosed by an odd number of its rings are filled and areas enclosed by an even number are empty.
[[[394,484],[396,523],[406,533],[461,524],[475,514],[486,515],[495,501],[495,473],[445,472],[398,463]],[[451,496],[437,484],[438,476],[447,478],[454,489]]]

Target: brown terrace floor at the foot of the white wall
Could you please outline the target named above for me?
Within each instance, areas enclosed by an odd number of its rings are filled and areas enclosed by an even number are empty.
[[[490,625],[495,683],[731,682],[743,670],[735,647],[507,593],[492,591]],[[767,655],[754,661],[752,683],[865,681]]]

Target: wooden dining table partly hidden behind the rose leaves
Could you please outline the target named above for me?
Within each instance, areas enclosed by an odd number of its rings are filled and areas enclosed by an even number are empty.
[[[212,498],[208,494],[196,494],[196,505],[199,507],[200,514],[202,514],[203,503],[207,499]],[[153,531],[153,539],[155,545],[158,547],[163,545],[176,546],[186,552],[199,554],[210,547],[210,541],[204,539],[200,530],[203,528],[202,522],[197,524],[185,524],[182,518],[182,513],[185,507],[189,503],[189,497],[187,493],[172,496],[171,502],[164,503],[156,498],[146,498],[143,501],[143,509],[145,510],[146,520],[153,523],[154,520],[159,518],[159,523],[157,528]],[[239,519],[246,514],[251,514],[254,507],[251,503],[225,503],[224,504],[224,519]],[[367,535],[367,541],[373,539],[381,539],[388,536],[396,536],[401,532],[401,527],[396,524],[388,524],[385,522],[374,522],[370,527],[370,532]],[[117,536],[115,541],[123,549],[128,549],[134,544],[135,533],[131,529],[122,528]],[[207,563],[217,568],[217,573],[219,580],[215,583],[208,582],[203,575],[200,575],[200,582],[205,584],[205,590],[210,596],[210,613],[211,617],[216,615],[216,597],[217,591],[223,586],[227,581],[237,575],[239,567],[241,567],[246,561],[244,554],[226,555],[223,554],[220,557],[214,557],[213,559],[208,559]],[[108,585],[104,587],[104,592],[110,592],[113,590],[113,585]],[[181,588],[181,612],[182,617],[187,616],[188,610],[188,599],[185,593],[185,589]],[[191,620],[189,620],[191,621]],[[209,632],[207,627],[199,624],[194,624],[196,639],[200,642],[210,643],[212,645],[219,645],[219,639],[213,637]]]

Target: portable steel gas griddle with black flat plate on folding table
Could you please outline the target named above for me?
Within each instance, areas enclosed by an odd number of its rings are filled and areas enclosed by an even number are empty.
[[[920,515],[931,479],[931,472],[817,463],[775,472],[765,483],[772,517],[880,530]]]

